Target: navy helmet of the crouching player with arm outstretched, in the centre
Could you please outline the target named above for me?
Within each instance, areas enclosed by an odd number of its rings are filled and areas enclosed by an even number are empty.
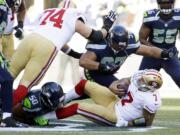
[[[128,46],[128,31],[121,25],[115,25],[110,30],[109,45],[116,51],[122,51]]]

